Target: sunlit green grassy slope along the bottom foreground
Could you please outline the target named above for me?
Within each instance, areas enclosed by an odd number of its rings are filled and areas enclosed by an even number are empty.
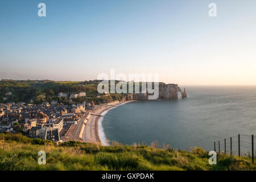
[[[56,144],[21,134],[0,134],[0,171],[3,170],[255,170],[250,158],[218,155],[208,163],[208,152],[200,147],[175,151],[170,147],[99,146],[92,143]],[[155,147],[154,147],[155,146]],[[39,165],[39,151],[46,152],[46,165]]]

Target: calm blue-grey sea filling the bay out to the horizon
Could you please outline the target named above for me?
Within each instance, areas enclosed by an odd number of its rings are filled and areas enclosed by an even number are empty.
[[[255,86],[185,88],[185,99],[136,101],[109,110],[101,123],[106,139],[213,150],[216,140],[256,134]]]

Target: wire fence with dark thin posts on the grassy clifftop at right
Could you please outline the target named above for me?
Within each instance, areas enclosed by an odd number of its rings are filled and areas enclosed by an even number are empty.
[[[251,162],[254,163],[256,152],[254,141],[254,135],[238,134],[234,137],[214,142],[214,151],[230,155],[247,156],[251,158]]]

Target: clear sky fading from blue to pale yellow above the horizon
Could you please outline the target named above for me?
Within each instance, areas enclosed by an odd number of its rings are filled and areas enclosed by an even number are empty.
[[[255,0],[0,0],[0,79],[84,81],[115,69],[179,85],[256,85],[255,8]]]

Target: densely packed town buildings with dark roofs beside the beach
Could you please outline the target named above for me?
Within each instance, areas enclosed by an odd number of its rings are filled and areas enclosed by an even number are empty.
[[[11,95],[7,92],[6,96]],[[59,97],[85,97],[86,93],[59,93]],[[64,105],[52,100],[51,103],[25,104],[7,102],[0,104],[0,133],[22,133],[30,138],[40,138],[62,142],[77,140],[80,121],[96,106],[93,101]],[[70,138],[67,137],[70,136]]]

